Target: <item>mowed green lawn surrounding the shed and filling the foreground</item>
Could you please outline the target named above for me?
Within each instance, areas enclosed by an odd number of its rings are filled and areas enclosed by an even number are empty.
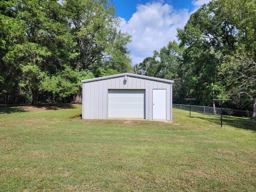
[[[81,111],[0,108],[0,191],[256,191],[251,127],[178,109],[172,124]]]

